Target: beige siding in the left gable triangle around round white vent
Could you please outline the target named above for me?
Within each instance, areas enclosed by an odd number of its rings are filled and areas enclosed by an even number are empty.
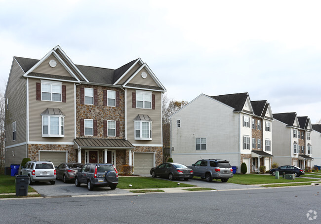
[[[50,60],[55,60],[57,62],[56,67],[52,68],[49,65]],[[54,55],[50,55],[33,72],[49,75],[71,76]]]

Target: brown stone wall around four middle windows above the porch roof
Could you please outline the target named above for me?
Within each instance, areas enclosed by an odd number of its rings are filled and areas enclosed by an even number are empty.
[[[80,87],[97,89],[97,105],[80,104]],[[119,107],[104,106],[103,90],[120,92]],[[120,121],[120,137],[108,137],[109,139],[125,138],[125,100],[124,92],[120,88],[82,84],[76,89],[76,126],[77,137],[81,138],[106,138],[104,137],[104,120]],[[80,136],[80,119],[97,120],[97,136]]]

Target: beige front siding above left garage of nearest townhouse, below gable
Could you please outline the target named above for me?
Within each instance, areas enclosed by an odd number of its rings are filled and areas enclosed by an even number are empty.
[[[75,91],[74,83],[66,85],[66,103],[36,100],[36,83],[39,79],[29,78],[29,141],[31,142],[73,142],[75,137]],[[65,137],[42,137],[41,113],[47,108],[60,109],[65,114]]]

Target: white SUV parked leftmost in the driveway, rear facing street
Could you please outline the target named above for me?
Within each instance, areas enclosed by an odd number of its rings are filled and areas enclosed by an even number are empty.
[[[52,162],[49,161],[29,161],[21,168],[20,175],[29,177],[29,185],[35,182],[56,183],[56,170]]]

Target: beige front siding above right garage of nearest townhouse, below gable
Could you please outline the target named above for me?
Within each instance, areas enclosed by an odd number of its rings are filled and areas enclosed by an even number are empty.
[[[127,140],[132,144],[138,145],[161,145],[161,93],[153,92],[155,94],[155,110],[132,108],[132,93],[136,92],[134,89],[127,89]],[[138,114],[147,114],[152,119],[152,141],[134,139],[134,119]]]

